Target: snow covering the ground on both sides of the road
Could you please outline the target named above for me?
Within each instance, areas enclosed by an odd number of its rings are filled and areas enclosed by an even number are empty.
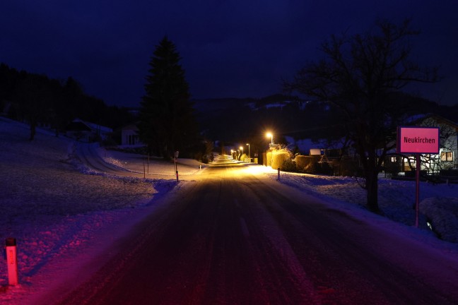
[[[74,155],[73,140],[39,129],[30,142],[28,132],[28,126],[0,117],[0,239],[4,242],[14,237],[18,241],[20,280],[20,285],[8,287],[6,260],[2,258],[0,304],[33,304],[40,294],[81,272],[79,266],[100,255],[120,234],[158,208],[158,198],[193,183],[206,167],[194,160],[180,160],[177,183],[173,163],[151,160],[143,179],[144,159],[100,150],[107,162],[134,174],[95,174]],[[277,171],[269,167],[253,165],[245,170],[278,183],[274,181]],[[416,229],[412,181],[381,177],[379,198],[385,217],[365,210],[365,192],[351,178],[282,172],[280,182],[366,221],[376,220],[387,230],[426,246],[458,253],[458,244],[436,238],[426,225],[427,218],[433,219],[442,237],[458,242],[456,184],[421,184],[421,208],[428,217],[421,215],[421,228]]]

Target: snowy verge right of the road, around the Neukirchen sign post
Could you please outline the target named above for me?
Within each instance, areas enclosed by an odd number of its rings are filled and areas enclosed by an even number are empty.
[[[271,179],[278,179],[278,171],[266,173]],[[335,199],[334,206],[343,203],[345,209],[365,212],[366,192],[352,177],[315,176],[281,172],[283,184],[312,193],[326,201]],[[398,181],[379,177],[379,206],[382,215],[389,220],[414,226],[416,220],[415,181]],[[458,242],[458,184],[420,184],[420,214],[418,227],[430,232],[432,226],[436,233],[446,241]],[[339,202],[338,202],[339,201]],[[350,203],[350,204],[349,204]],[[361,216],[361,215],[360,215]],[[428,225],[429,223],[429,225]]]

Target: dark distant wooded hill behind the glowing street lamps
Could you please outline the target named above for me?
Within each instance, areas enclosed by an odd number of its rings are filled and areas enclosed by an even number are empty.
[[[458,122],[458,104],[443,106],[403,93],[394,93],[392,98],[403,113],[435,113]],[[296,96],[276,94],[260,99],[215,98],[193,102],[200,128],[212,140],[254,142],[268,130],[276,133],[276,140],[285,136],[298,140],[332,138],[344,132],[344,116],[339,109]]]

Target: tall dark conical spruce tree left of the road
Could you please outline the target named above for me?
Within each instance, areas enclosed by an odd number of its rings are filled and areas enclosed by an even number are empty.
[[[189,155],[197,128],[180,54],[168,37],[156,46],[141,100],[139,137],[165,159],[176,150]]]

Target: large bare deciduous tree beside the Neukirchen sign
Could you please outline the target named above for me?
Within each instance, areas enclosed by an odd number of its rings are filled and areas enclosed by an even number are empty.
[[[348,138],[363,167],[368,209],[379,212],[377,175],[397,126],[404,117],[396,92],[412,82],[432,83],[437,71],[409,60],[409,38],[418,35],[409,20],[394,25],[386,20],[373,30],[347,37],[335,35],[322,44],[325,59],[311,62],[285,82],[289,91],[338,106],[346,117]]]

